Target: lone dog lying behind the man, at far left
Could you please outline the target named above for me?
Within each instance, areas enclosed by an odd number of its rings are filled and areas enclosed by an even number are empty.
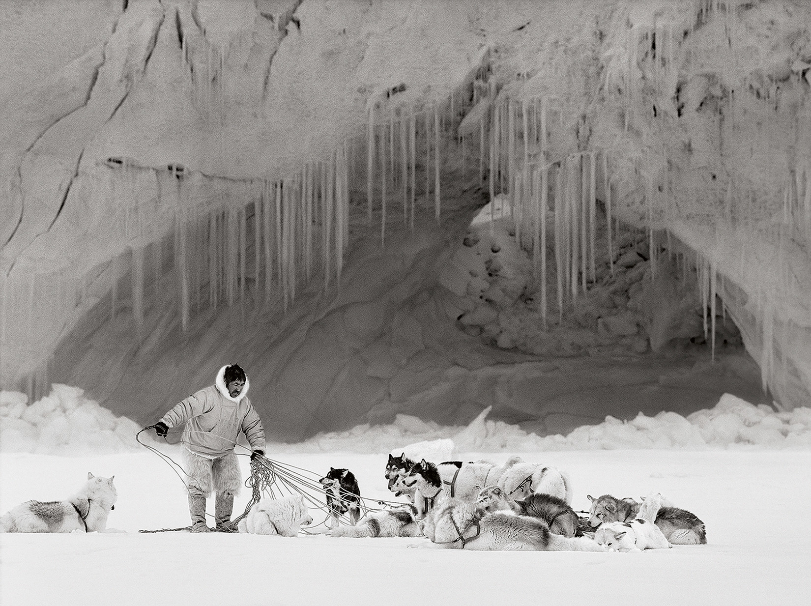
[[[66,501],[25,501],[0,517],[0,532],[104,532],[118,499],[114,477],[88,472],[84,487]]]

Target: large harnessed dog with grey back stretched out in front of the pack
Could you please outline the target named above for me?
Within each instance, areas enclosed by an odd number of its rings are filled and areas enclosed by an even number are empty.
[[[488,512],[476,503],[446,499],[425,519],[423,532],[434,544],[478,551],[584,551],[606,548],[586,537],[568,538],[549,531],[538,518],[512,511]]]

